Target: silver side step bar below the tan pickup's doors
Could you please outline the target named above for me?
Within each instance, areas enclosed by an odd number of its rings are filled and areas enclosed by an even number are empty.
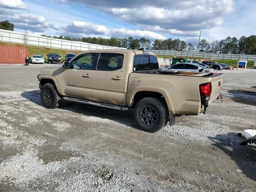
[[[122,106],[113,105],[113,104],[99,103],[99,102],[89,101],[89,100],[85,100],[85,99],[78,99],[78,98],[72,98],[72,97],[62,97],[62,99],[66,100],[66,101],[84,103],[84,104],[89,104],[89,105],[94,105],[94,106],[116,109],[116,110],[120,110],[120,111],[128,110],[127,107],[122,107]]]

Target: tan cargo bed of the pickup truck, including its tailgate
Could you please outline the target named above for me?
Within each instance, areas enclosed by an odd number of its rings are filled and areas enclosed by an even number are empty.
[[[209,103],[218,98],[223,84],[223,74],[173,72],[162,70],[147,70],[130,73],[128,92],[137,90],[151,90],[160,92],[169,97],[167,102],[172,114],[198,115],[204,111],[201,107],[199,85],[211,82],[211,95]],[[132,96],[133,94],[130,94]],[[129,101],[129,98],[128,98]]]

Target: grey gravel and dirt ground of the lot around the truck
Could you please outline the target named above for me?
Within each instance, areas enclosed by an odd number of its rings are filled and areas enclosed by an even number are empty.
[[[256,191],[256,70],[222,71],[223,102],[147,133],[133,110],[42,105],[44,65],[0,65],[0,191]],[[54,65],[53,65],[54,66]]]

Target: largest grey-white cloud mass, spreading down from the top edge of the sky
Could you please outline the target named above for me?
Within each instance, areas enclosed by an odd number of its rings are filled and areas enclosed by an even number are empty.
[[[200,30],[222,25],[223,17],[234,10],[234,0],[68,1],[84,3],[140,30],[183,36],[194,36]]]

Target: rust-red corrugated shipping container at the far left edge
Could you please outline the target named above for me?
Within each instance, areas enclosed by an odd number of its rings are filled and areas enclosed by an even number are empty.
[[[0,45],[0,63],[25,63],[28,48]]]

